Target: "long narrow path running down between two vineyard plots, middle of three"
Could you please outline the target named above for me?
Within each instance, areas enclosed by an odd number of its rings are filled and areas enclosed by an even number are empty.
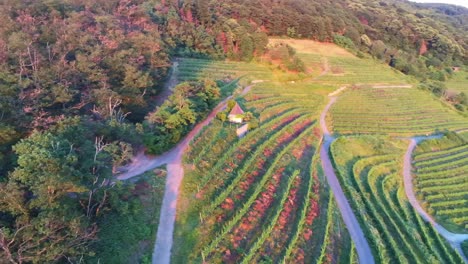
[[[327,124],[325,122],[325,117],[327,115],[328,110],[335,102],[336,97],[330,97],[330,101],[328,102],[327,106],[320,115],[320,126],[323,131],[323,145],[320,149],[322,167],[327,177],[328,185],[330,186],[335,196],[335,200],[338,204],[338,208],[340,209],[343,221],[345,222],[349,234],[356,246],[356,250],[359,257],[359,263],[373,264],[374,257],[372,256],[372,251],[364,236],[364,232],[362,231],[361,226],[359,225],[359,222],[357,221],[357,218],[354,215],[354,212],[351,209],[348,200],[346,199],[346,196],[343,192],[343,189],[341,188],[338,178],[336,177],[335,170],[333,169],[333,165],[330,160],[330,145],[335,140],[335,138],[333,138],[333,136],[330,135],[330,131],[328,131]]]

